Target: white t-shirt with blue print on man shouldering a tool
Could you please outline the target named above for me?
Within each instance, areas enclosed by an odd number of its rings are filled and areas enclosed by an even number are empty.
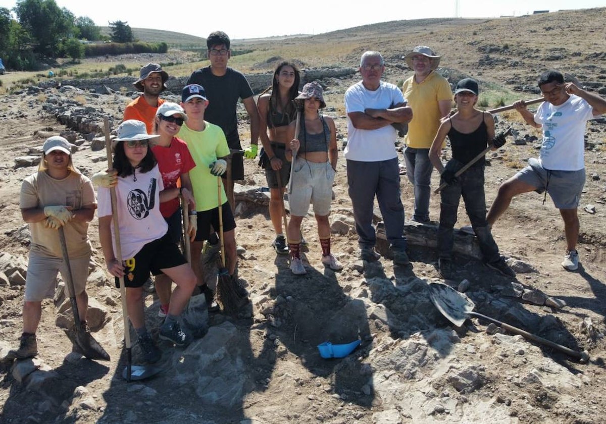
[[[559,106],[542,102],[534,114],[534,122],[543,126],[542,167],[553,171],[585,168],[585,127],[591,118],[593,108],[579,96],[571,95]]]

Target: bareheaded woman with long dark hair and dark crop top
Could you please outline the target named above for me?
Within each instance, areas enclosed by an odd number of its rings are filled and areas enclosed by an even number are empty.
[[[288,254],[283,233],[287,228],[282,228],[282,197],[290,179],[290,164],[286,160],[285,151],[288,124],[296,119],[297,110],[293,100],[299,94],[299,81],[296,65],[281,62],[273,73],[270,87],[261,93],[257,101],[261,126],[259,136],[263,145],[259,165],[265,170],[270,191],[269,216],[276,234],[271,245],[278,254]]]

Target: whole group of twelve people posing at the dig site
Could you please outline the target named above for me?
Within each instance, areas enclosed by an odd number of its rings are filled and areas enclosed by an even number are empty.
[[[72,146],[67,140],[55,136],[45,141],[39,170],[24,180],[21,190],[20,207],[23,219],[30,224],[32,247],[23,333],[19,348],[8,355],[11,359],[32,357],[38,352],[36,329],[41,301],[53,296],[56,274],[67,272],[56,234],[59,227],[64,228],[68,240],[69,265],[81,315],[76,325],[88,331],[85,283],[92,247],[87,231],[95,208],[105,263],[116,285],[124,280],[128,317],[145,360],[156,362],[161,356],[143,314],[142,287],[150,273],[156,275],[159,314],[164,317],[159,337],[175,345],[187,345],[191,334],[182,328],[179,316],[195,290],[205,295],[209,306],[213,303],[214,294],[204,283],[200,262],[204,243],[218,242],[215,233],[219,227],[224,235],[228,274],[237,280],[236,221],[227,196],[233,187],[226,186],[226,182],[244,178],[243,157],[255,159],[261,153],[259,164],[265,169],[270,187],[269,213],[275,231],[272,245],[276,253],[290,254],[291,272],[307,272],[301,259],[301,222],[310,204],[318,227],[321,261],[332,270],[342,269],[342,263],[331,253],[329,222],[338,161],[337,134],[333,119],[322,114],[325,101],[321,85],[311,82],[299,92],[298,68],[282,62],[273,74],[271,87],[255,104],[244,75],[227,66],[231,55],[228,36],[221,31],[211,33],[207,47],[210,65],[190,76],[182,89],[181,104],[160,98],[168,79],[160,65],[148,64],[141,69],[135,87],[142,94],[125,109],[112,146],[113,167],[95,174],[93,181],[73,167]],[[396,127],[408,124],[404,158],[415,193],[413,220],[430,222],[433,167],[446,184],[441,191],[438,230],[438,269],[442,276],[450,277],[454,271],[453,227],[462,196],[484,262],[513,277],[515,274],[499,255],[491,227],[513,196],[532,190],[550,193],[561,211],[567,240],[562,265],[575,270],[579,233],[576,209],[585,180],[585,122],[605,113],[606,101],[572,83],[565,84],[556,71],[541,75],[538,84],[545,102],[539,110],[533,114],[523,101],[515,104],[529,125],[543,128],[539,159],[531,160],[527,168],[501,185],[487,215],[484,159],[464,172],[460,170],[488,147],[502,147],[505,138],[495,136],[491,114],[476,108],[479,87],[473,79],[463,79],[456,85],[456,112],[451,113],[453,93],[448,82],[436,73],[440,58],[429,47],[415,47],[405,56],[414,75],[399,88],[382,80],[385,64],[381,53],[366,51],[359,66],[362,80],[345,92],[348,137],[344,157],[359,257],[367,261],[381,257],[375,251],[376,197],[394,263],[410,263],[396,151]],[[233,154],[242,151],[238,100],[250,119],[250,146],[243,154]],[[450,139],[452,159],[442,164],[446,137]],[[226,179],[228,168],[231,175]],[[282,202],[289,181],[290,222],[284,228]],[[97,197],[93,183],[98,186]],[[111,190],[116,193],[115,205]],[[179,197],[184,200],[182,205]],[[191,240],[190,264],[178,248],[182,212],[187,221],[186,236]],[[115,217],[122,262],[116,259]],[[246,291],[236,287],[245,297]]]

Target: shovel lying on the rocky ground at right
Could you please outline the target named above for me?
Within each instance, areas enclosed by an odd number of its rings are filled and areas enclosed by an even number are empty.
[[[501,322],[491,317],[473,312],[476,305],[469,299],[465,294],[459,293],[454,288],[441,283],[430,283],[430,297],[431,302],[436,305],[436,308],[444,315],[451,323],[460,327],[463,325],[468,317],[477,317],[490,322],[495,323],[504,330],[510,331],[513,334],[519,334],[524,339],[532,340],[536,343],[549,346],[550,348],[559,350],[568,356],[574,357],[581,363],[587,363],[589,361],[589,353],[585,350],[582,352],[574,351],[565,346],[558,345],[558,343],[551,342],[551,340],[543,339],[542,337],[535,336],[528,331],[521,330],[520,328],[514,327],[507,323]]]

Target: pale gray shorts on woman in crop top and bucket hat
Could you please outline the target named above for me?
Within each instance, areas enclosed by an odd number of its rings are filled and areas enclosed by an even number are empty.
[[[291,178],[291,193],[288,195],[291,214],[307,215],[310,202],[316,215],[330,214],[335,181],[335,170],[330,162],[308,162],[297,158]]]

